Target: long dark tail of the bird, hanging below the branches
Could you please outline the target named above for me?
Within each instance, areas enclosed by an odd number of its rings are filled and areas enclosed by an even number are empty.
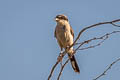
[[[71,62],[71,65],[72,65],[72,68],[75,72],[77,73],[80,73],[80,69],[79,69],[79,66],[76,62],[76,59],[75,59],[75,56],[73,55],[72,57],[68,54],[68,56],[70,57],[70,62]]]

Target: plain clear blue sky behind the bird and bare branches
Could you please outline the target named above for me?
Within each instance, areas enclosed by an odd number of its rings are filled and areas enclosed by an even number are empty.
[[[68,16],[75,32],[120,18],[120,0],[0,0],[0,80],[47,80],[59,55],[54,38],[57,14]],[[81,41],[120,28],[102,25],[86,31]],[[61,80],[92,80],[120,57],[120,33],[101,46],[77,52],[81,73],[70,63]],[[56,80],[60,65],[53,74]],[[120,80],[120,62],[99,80]]]

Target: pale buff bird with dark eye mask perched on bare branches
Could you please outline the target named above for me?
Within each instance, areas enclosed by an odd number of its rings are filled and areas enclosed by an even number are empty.
[[[63,52],[63,49],[67,51],[73,70],[77,73],[80,73],[79,66],[76,62],[75,56],[73,55],[73,47],[67,50],[68,47],[73,44],[74,40],[74,31],[69,24],[68,18],[66,15],[60,14],[55,17],[55,21],[57,25],[54,31],[54,36],[57,39],[61,53]]]

